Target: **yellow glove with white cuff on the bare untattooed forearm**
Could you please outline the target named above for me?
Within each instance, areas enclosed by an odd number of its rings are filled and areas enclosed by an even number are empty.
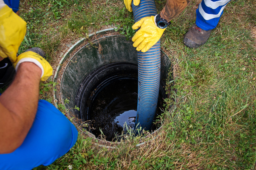
[[[32,62],[36,64],[39,68],[42,70],[41,74],[41,80],[45,81],[49,76],[52,75],[52,67],[51,65],[39,54],[32,52],[32,51],[27,51],[25,53],[20,54],[17,57],[17,61],[13,63],[13,67],[15,70],[18,70],[18,67],[21,63],[23,62]]]

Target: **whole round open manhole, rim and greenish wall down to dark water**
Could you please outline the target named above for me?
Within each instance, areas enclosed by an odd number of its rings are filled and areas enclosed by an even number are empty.
[[[65,105],[66,109],[68,110],[69,116],[78,118],[77,120],[74,120],[74,123],[77,125],[77,128],[80,129],[82,133],[87,134],[88,136],[93,137],[95,139],[97,138],[96,136],[99,135],[99,132],[97,132],[97,130],[96,132],[93,132],[93,130],[95,129],[89,128],[89,127],[94,127],[94,121],[90,121],[91,117],[88,117],[89,116],[88,113],[91,111],[96,112],[97,109],[100,109],[100,108],[97,108],[97,103],[100,103],[100,104],[104,103],[104,100],[102,100],[100,93],[101,92],[103,93],[105,88],[106,89],[112,88],[112,90],[110,89],[108,91],[113,91],[113,89],[117,89],[117,88],[114,88],[113,86],[119,87],[120,85],[118,84],[122,84],[123,86],[126,87],[127,92],[125,93],[130,93],[130,97],[131,97],[133,96],[132,94],[137,93],[137,89],[138,89],[137,88],[138,55],[137,55],[136,49],[133,47],[133,42],[131,40],[126,39],[125,36],[114,32],[114,29],[102,30],[100,32],[97,32],[96,36],[98,37],[94,38],[95,34],[89,35],[89,38],[91,38],[92,40],[89,40],[87,42],[85,41],[87,39],[80,40],[76,42],[69,50],[67,50],[67,52],[62,57],[62,60],[60,61],[56,69],[56,73],[54,75],[54,80],[53,80],[54,82],[59,83],[56,86],[56,91],[54,91],[54,94],[55,94],[54,99],[57,99],[57,100],[54,100],[56,107],[59,102]],[[109,71],[108,69],[112,71]],[[161,75],[160,75],[159,100],[158,100],[158,106],[157,106],[158,109],[159,109],[159,103],[160,103],[160,107],[162,107],[163,104],[161,102],[163,102],[163,99],[169,97],[169,96],[165,96],[166,94],[164,92],[164,87],[166,84],[166,80],[169,79],[169,72],[170,72],[169,69],[172,69],[171,62],[168,56],[166,56],[162,52],[161,52],[161,68],[160,69],[161,69],[160,71]],[[94,75],[97,75],[97,76],[94,76]],[[93,77],[96,77],[96,78],[93,79]],[[98,82],[96,81],[97,79],[101,81]],[[88,82],[85,82],[85,81],[88,81]],[[105,85],[103,85],[104,83]],[[126,86],[124,84],[129,84],[129,86]],[[86,87],[86,88],[81,88],[81,87]],[[90,95],[88,93],[90,93]],[[97,94],[95,95],[95,93]],[[116,93],[113,95],[119,95],[119,93]],[[90,97],[89,100],[87,100],[88,96]],[[104,96],[105,98],[108,97],[106,95]],[[100,98],[100,101],[97,100],[97,98]],[[66,101],[66,99],[68,99],[69,102],[64,102]],[[125,99],[128,100],[129,96],[125,96]],[[122,100],[125,100],[125,99],[122,99]],[[106,100],[110,100],[110,99],[107,98]],[[91,105],[90,107],[86,107],[88,104],[92,103],[92,101],[94,101],[93,105]],[[117,101],[117,100],[114,100],[114,101]],[[110,102],[107,102],[107,103],[110,103]],[[112,121],[116,119],[115,122],[117,124],[119,122],[119,125],[121,126],[122,117],[125,117],[126,112],[129,112],[127,113],[129,114],[128,119],[130,118],[128,120],[128,125],[132,127],[134,123],[133,117],[135,116],[130,116],[130,114],[135,114],[136,112],[137,96],[134,96],[134,100],[131,101],[131,105],[134,107],[123,109],[122,111],[120,110],[119,112],[120,114],[121,112],[123,112],[121,116],[119,113],[115,113],[115,115],[112,117]],[[75,107],[79,107],[80,112],[77,112],[77,110],[74,109]],[[108,107],[114,110],[113,109],[114,106],[108,106]],[[161,111],[158,110],[158,113],[156,114],[156,116],[159,115],[160,112]],[[104,117],[102,120],[104,120]],[[157,122],[157,120],[155,121]],[[82,128],[86,123],[88,125],[87,127],[88,131]],[[152,131],[153,129],[156,129],[158,125],[159,124],[157,124],[156,127],[152,127]],[[157,134],[159,132],[159,129],[160,128],[156,129],[151,134]],[[94,135],[92,132],[96,135]],[[120,130],[119,130],[119,133],[120,133]],[[119,135],[118,133],[113,133],[113,134]],[[104,132],[104,135],[106,135],[105,132]],[[99,146],[104,145],[104,147],[107,147],[112,144],[114,145],[115,143],[109,142],[109,141],[112,141],[112,139],[113,137],[112,138],[109,137],[109,140],[105,141],[105,140],[101,140],[98,137],[98,139],[95,140],[97,141],[97,143],[95,144]],[[113,141],[116,141],[116,138]]]

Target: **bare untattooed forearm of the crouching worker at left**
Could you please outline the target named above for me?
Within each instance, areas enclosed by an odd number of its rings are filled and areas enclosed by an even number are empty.
[[[0,153],[13,151],[27,136],[37,111],[40,76],[41,69],[34,63],[21,63],[14,81],[0,96]]]

